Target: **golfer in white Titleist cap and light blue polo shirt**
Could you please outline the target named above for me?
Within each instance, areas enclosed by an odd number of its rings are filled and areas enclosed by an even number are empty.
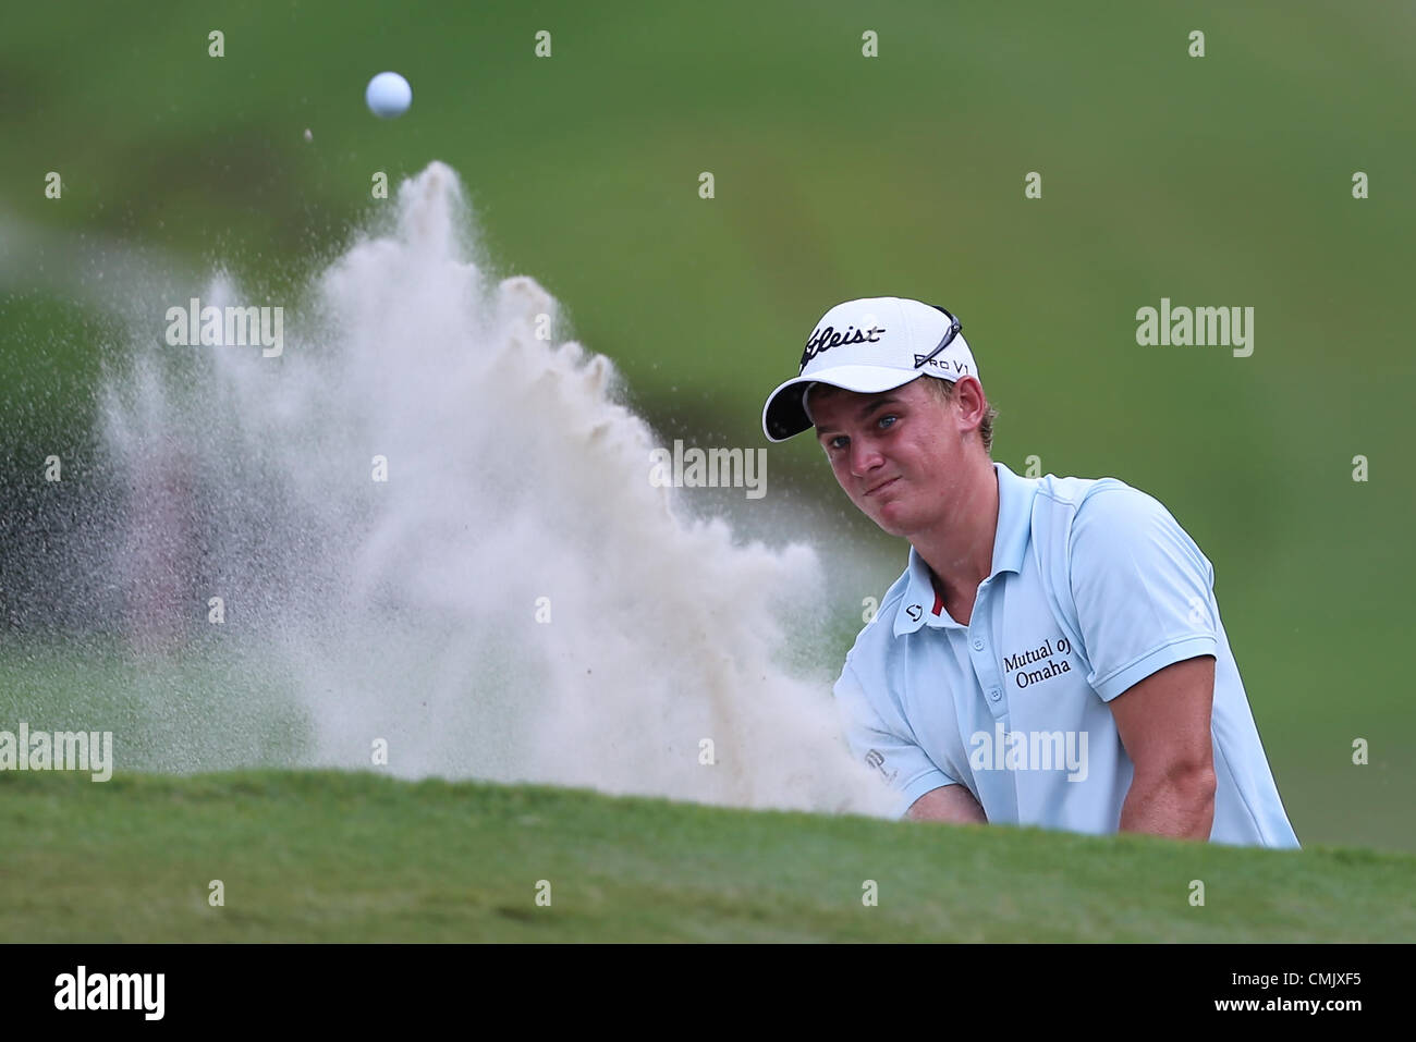
[[[1297,847],[1214,568],[1116,479],[1024,479],[960,323],[899,297],[817,323],[762,423],[810,428],[910,545],[835,684],[855,756],[910,818]]]

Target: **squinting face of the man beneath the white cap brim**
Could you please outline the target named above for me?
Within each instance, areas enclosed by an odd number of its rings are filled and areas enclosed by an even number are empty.
[[[862,514],[909,538],[947,518],[966,442],[957,402],[920,377],[881,394],[813,388],[807,406],[835,480]]]

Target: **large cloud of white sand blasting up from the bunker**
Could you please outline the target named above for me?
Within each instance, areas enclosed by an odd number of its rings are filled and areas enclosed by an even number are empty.
[[[433,163],[286,316],[279,358],[176,348],[110,381],[129,627],[160,639],[184,589],[224,613],[197,639],[221,680],[147,697],[169,725],[147,757],[879,813],[820,671],[783,664],[816,554],[739,545],[653,487],[610,361],[558,341],[534,279],[493,282],[470,228]],[[201,303],[265,302],[218,277]]]

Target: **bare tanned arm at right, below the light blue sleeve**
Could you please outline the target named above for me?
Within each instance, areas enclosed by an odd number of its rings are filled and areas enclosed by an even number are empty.
[[[1171,663],[1107,705],[1136,766],[1120,831],[1208,840],[1215,821],[1215,660]],[[930,793],[933,796],[933,793]]]

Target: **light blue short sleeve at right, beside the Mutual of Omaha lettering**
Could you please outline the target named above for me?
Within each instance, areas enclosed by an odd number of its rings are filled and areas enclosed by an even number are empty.
[[[1171,663],[1218,647],[1214,566],[1157,500],[1127,486],[1092,493],[1068,555],[1087,682],[1110,702]]]

